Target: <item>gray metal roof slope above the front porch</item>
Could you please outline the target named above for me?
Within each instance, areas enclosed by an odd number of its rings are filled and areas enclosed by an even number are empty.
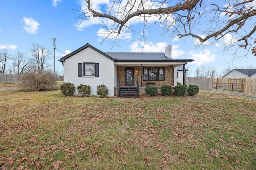
[[[105,53],[106,55],[118,60],[173,60],[164,53]]]

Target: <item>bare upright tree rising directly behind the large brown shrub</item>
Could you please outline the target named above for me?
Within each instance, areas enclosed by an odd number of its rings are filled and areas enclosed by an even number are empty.
[[[50,64],[47,61],[50,59],[50,50],[46,50],[43,45],[39,45],[38,43],[32,43],[32,48],[30,49],[32,56],[32,63],[39,73],[43,73],[50,67]]]

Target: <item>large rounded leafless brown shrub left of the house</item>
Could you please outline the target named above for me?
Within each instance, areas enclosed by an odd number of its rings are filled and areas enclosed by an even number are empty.
[[[53,90],[57,86],[56,76],[50,72],[25,72],[21,76],[24,88],[31,91]]]

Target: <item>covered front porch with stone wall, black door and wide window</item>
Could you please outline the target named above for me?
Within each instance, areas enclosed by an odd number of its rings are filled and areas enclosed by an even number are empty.
[[[185,64],[185,62],[116,64],[115,96],[119,96],[120,89],[137,90],[139,97],[139,95],[145,94],[145,88],[148,85],[156,86],[159,92],[162,85],[175,86],[177,84],[176,66],[181,64]]]

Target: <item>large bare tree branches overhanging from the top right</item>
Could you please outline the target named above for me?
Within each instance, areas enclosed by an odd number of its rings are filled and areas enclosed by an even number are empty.
[[[85,0],[82,21],[99,17],[105,27],[106,38],[130,31],[142,33],[152,25],[161,27],[166,37],[194,37],[201,45],[224,42],[224,49],[235,48],[234,59],[246,57],[236,55],[243,48],[246,53],[252,50],[256,56],[256,3],[255,0],[114,0],[106,11],[99,12],[91,0]],[[101,9],[102,11],[102,9]],[[110,22],[106,23],[109,19]],[[134,30],[134,22],[144,24],[143,29]],[[229,41],[227,37],[231,37]],[[141,39],[142,39],[141,38]],[[115,41],[113,42],[115,43]]]

